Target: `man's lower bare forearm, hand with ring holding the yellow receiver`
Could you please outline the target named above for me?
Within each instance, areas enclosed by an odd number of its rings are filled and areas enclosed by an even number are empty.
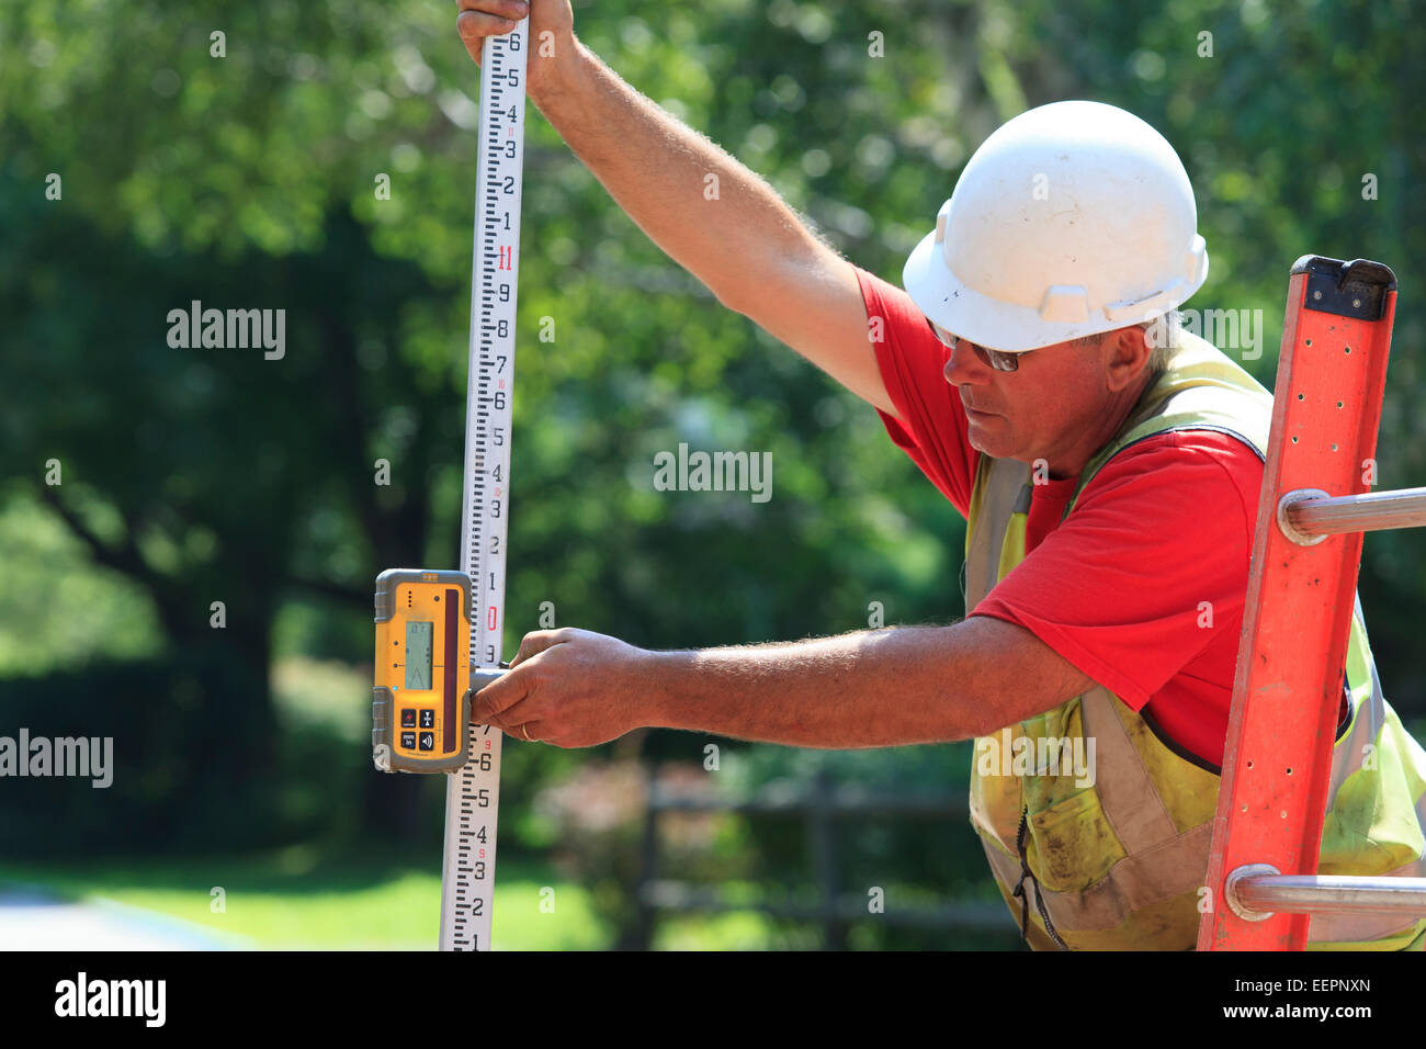
[[[556,746],[633,728],[856,749],[987,735],[1094,681],[1021,627],[971,617],[773,645],[649,652],[580,629],[536,631],[472,719]]]

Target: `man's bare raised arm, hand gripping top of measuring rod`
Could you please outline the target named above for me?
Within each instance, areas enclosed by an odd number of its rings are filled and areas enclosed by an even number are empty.
[[[609,196],[719,301],[894,415],[851,263],[727,151],[626,84],[573,33],[569,0],[459,0],[472,57],[530,11],[529,96]],[[542,34],[549,33],[542,49]],[[553,47],[553,56],[543,54]],[[716,177],[717,193],[710,176]],[[710,197],[713,197],[710,200]]]

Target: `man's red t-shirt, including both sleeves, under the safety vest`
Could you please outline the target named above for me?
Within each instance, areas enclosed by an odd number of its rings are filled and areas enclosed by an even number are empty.
[[[965,517],[980,452],[943,374],[950,350],[901,288],[857,280],[867,317],[884,318],[873,345],[900,421],[877,414]],[[1171,745],[1222,765],[1262,460],[1215,430],[1159,434],[1111,458],[1061,524],[1077,481],[1034,485],[1027,557],[971,614],[1031,631]]]

